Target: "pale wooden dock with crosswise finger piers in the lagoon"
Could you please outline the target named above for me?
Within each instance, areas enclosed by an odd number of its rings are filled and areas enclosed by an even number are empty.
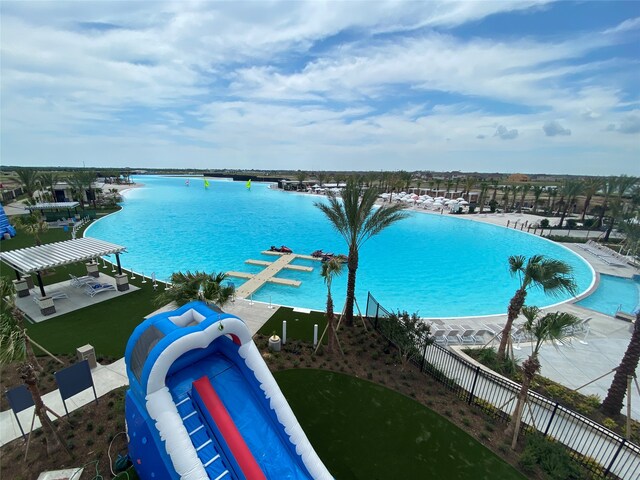
[[[299,287],[301,282],[298,280],[289,280],[287,278],[276,278],[276,275],[284,269],[296,270],[300,272],[311,272],[312,267],[304,267],[302,265],[291,265],[295,259],[300,258],[304,260],[320,260],[319,258],[312,257],[311,255],[298,255],[295,253],[281,253],[272,252],[270,250],[262,252],[264,255],[278,256],[276,261],[269,262],[266,260],[252,260],[249,259],[245,263],[250,265],[259,265],[265,267],[261,272],[253,274],[248,272],[227,272],[230,277],[246,278],[247,281],[238,287],[236,290],[236,296],[239,298],[247,298],[256,292],[265,283],[275,283],[277,285],[288,285],[291,287]]]

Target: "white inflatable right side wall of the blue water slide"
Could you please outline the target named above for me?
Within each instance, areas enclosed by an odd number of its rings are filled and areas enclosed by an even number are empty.
[[[264,362],[262,355],[253,341],[244,343],[238,353],[244,358],[245,364],[256,376],[260,388],[269,399],[269,406],[276,413],[278,421],[284,426],[284,431],[289,435],[289,440],[296,446],[296,453],[302,458],[307,470],[315,480],[333,480],[333,477],[324,466],[320,457],[311,446],[311,442],[302,430],[298,419],[291,410],[289,403],[284,398],[282,390],[278,386],[273,374]]]

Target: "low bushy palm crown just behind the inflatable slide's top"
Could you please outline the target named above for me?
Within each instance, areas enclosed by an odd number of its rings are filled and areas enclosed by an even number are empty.
[[[159,293],[155,302],[157,305],[175,302],[180,307],[201,300],[222,308],[233,297],[235,290],[232,285],[222,284],[226,278],[227,274],[223,272],[175,272],[171,275],[171,288]]]

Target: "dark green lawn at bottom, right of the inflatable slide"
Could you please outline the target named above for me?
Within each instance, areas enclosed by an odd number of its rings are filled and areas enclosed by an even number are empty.
[[[335,478],[525,478],[448,420],[385,387],[320,370],[275,377]]]

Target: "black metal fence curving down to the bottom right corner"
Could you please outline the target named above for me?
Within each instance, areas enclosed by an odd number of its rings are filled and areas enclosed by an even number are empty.
[[[387,340],[385,322],[390,313],[369,293],[366,315]],[[520,385],[487,371],[440,345],[423,339],[414,359],[422,373],[437,381],[497,420],[508,423]],[[640,478],[640,447],[602,425],[535,392],[529,392],[522,428],[534,428],[567,447],[596,476],[635,480]]]

